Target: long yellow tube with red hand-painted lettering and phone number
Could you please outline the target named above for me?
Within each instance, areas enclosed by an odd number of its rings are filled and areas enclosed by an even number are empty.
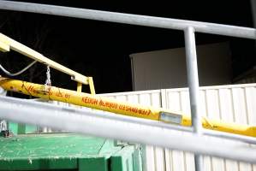
[[[191,126],[191,118],[182,112],[168,109],[152,108],[132,103],[119,102],[107,97],[98,97],[83,92],[70,91],[55,86],[33,84],[21,80],[11,80],[0,77],[0,86],[8,91],[16,91],[33,97],[41,97],[65,103],[73,103],[92,109],[110,111],[116,114],[129,115],[156,121],[167,121],[182,126]],[[235,133],[256,137],[256,127],[226,123],[222,121],[208,121],[203,119],[203,127],[226,133]]]

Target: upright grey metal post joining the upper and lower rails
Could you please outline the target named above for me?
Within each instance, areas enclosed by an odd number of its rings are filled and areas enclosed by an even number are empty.
[[[194,28],[185,29],[186,62],[188,74],[189,98],[191,107],[192,127],[194,133],[199,136],[202,133],[201,116],[199,112],[199,76],[197,67],[196,45],[194,37]],[[195,155],[196,171],[203,170],[202,156]]]

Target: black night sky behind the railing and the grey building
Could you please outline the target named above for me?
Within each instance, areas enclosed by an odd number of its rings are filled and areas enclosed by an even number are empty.
[[[170,4],[167,1],[147,1],[146,3],[138,3],[138,1],[73,3],[74,1],[71,0],[36,2],[253,27],[248,0],[169,1]],[[20,12],[1,11],[1,15],[1,32],[30,47],[33,47],[35,37],[48,32],[45,41],[39,46],[39,52],[81,74],[91,75],[98,93],[132,91],[129,54],[184,46],[183,34],[180,31]],[[196,38],[197,44],[229,41],[234,76],[255,64],[253,40],[201,33],[197,33]],[[13,59],[2,61],[16,62],[15,56],[17,55],[14,53]],[[6,58],[6,56],[3,57]],[[24,61],[24,58],[22,60]],[[15,64],[8,65],[9,70],[18,70],[13,68],[13,65]],[[39,71],[42,69],[45,68],[39,65],[36,68]],[[33,81],[43,83],[44,71],[41,74],[38,72],[38,76]],[[26,80],[26,78],[22,79]],[[52,81],[53,85],[72,89],[75,87],[74,82],[69,80],[67,75],[57,71],[52,71]]]

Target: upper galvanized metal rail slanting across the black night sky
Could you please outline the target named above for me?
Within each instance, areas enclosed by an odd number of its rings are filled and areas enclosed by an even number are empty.
[[[176,20],[164,17],[147,15],[130,15],[92,9],[80,9],[39,3],[21,3],[0,1],[0,9],[15,10],[45,15],[60,15],[96,21],[110,21],[123,24],[139,25],[146,27],[160,27],[176,30],[185,30],[193,27],[195,32],[256,39],[256,30],[249,27],[235,27],[223,24],[214,24],[200,21]]]

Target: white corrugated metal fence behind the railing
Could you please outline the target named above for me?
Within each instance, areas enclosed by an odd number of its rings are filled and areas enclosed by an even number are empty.
[[[148,104],[190,114],[188,89],[135,91],[104,94],[132,103]],[[220,85],[200,88],[200,109],[211,119],[256,125],[256,84]],[[193,154],[147,145],[145,170],[194,170]],[[205,171],[256,171],[256,165],[204,156]]]

